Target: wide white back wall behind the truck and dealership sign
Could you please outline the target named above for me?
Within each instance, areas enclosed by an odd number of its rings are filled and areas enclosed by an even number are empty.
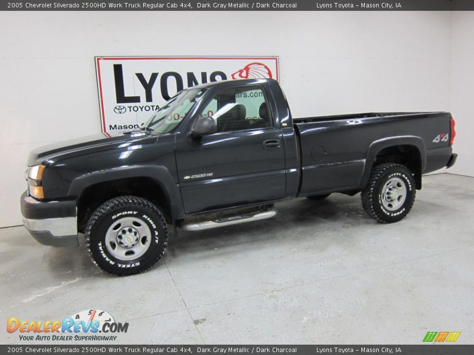
[[[449,12],[0,13],[0,226],[21,224],[31,149],[100,132],[94,56],[278,55],[294,116],[452,108],[464,163],[469,88],[448,97],[473,77],[473,44],[454,38],[467,16],[451,32]]]

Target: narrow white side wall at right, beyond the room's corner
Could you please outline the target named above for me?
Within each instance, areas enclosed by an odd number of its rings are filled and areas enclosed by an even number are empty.
[[[474,12],[451,13],[449,110],[456,121],[454,150],[459,154],[449,173],[474,176]]]

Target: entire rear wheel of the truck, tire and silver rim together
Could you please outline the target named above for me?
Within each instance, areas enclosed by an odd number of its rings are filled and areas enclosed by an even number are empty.
[[[415,187],[413,174],[407,167],[392,163],[377,165],[360,194],[362,206],[379,222],[398,222],[413,206]]]

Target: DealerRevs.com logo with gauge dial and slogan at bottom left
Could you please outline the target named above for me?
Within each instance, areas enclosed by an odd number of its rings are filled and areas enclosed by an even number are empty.
[[[7,320],[8,333],[18,333],[20,341],[115,341],[126,333],[128,323],[116,322],[106,311],[89,309],[63,320]]]

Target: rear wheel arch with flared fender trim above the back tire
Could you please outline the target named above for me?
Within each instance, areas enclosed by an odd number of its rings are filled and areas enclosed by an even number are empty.
[[[421,189],[421,176],[426,165],[426,148],[423,140],[419,137],[400,137],[372,143],[365,160],[361,188],[366,186],[372,168],[383,163],[406,166],[414,175],[416,188]]]

